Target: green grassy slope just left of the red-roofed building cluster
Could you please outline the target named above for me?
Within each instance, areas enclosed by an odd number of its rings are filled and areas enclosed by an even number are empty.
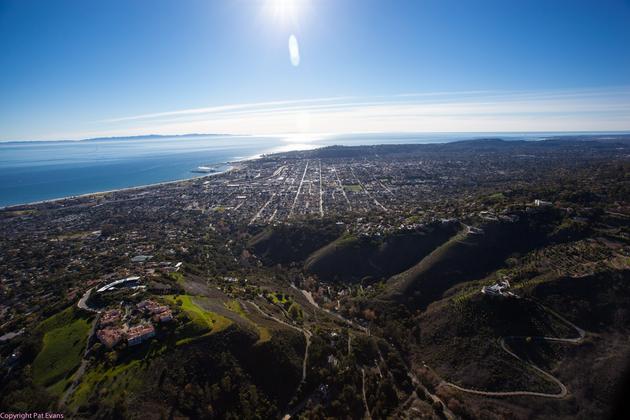
[[[33,361],[36,383],[52,385],[79,366],[90,327],[89,319],[80,317],[74,307],[53,315],[38,326],[37,330],[44,333],[44,337],[42,350]]]

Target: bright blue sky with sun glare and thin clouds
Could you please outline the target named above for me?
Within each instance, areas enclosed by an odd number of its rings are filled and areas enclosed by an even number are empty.
[[[630,129],[622,0],[0,0],[0,52],[0,140]]]

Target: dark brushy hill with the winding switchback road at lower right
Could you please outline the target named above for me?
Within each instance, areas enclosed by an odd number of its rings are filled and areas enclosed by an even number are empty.
[[[525,297],[522,299],[493,299],[478,292],[458,299],[461,294],[451,290],[453,297],[431,304],[415,317],[421,334],[412,352],[414,364],[431,366],[421,369],[426,380],[449,406],[460,410],[456,414],[465,418],[499,418],[502,411],[518,418],[574,418],[578,414],[606,418],[611,407],[599,404],[592,396],[613,401],[627,370],[630,346],[623,337],[628,331],[629,280],[628,270],[603,270],[581,278],[555,276],[518,288],[517,293]],[[579,337],[575,328],[557,315],[584,328],[584,340],[537,339]],[[516,336],[523,338],[509,339]],[[521,360],[502,349],[501,338]],[[553,395],[561,391],[558,383],[531,364],[555,377],[569,397],[492,399],[444,385],[449,382],[491,392],[520,390]],[[442,385],[440,381],[444,381]]]

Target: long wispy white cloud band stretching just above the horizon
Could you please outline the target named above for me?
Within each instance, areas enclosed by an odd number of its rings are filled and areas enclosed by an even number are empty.
[[[281,100],[122,116],[95,122],[92,127],[82,133],[74,133],[72,137],[191,132],[295,135],[616,131],[630,129],[630,87],[409,92],[370,97]]]

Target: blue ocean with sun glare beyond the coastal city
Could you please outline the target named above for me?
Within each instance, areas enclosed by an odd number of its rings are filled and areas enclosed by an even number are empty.
[[[576,134],[576,133],[573,133]],[[588,134],[588,133],[580,133]],[[261,154],[327,145],[537,140],[559,133],[352,134],[319,137],[177,136],[0,143],[0,207],[200,176],[192,171]]]

